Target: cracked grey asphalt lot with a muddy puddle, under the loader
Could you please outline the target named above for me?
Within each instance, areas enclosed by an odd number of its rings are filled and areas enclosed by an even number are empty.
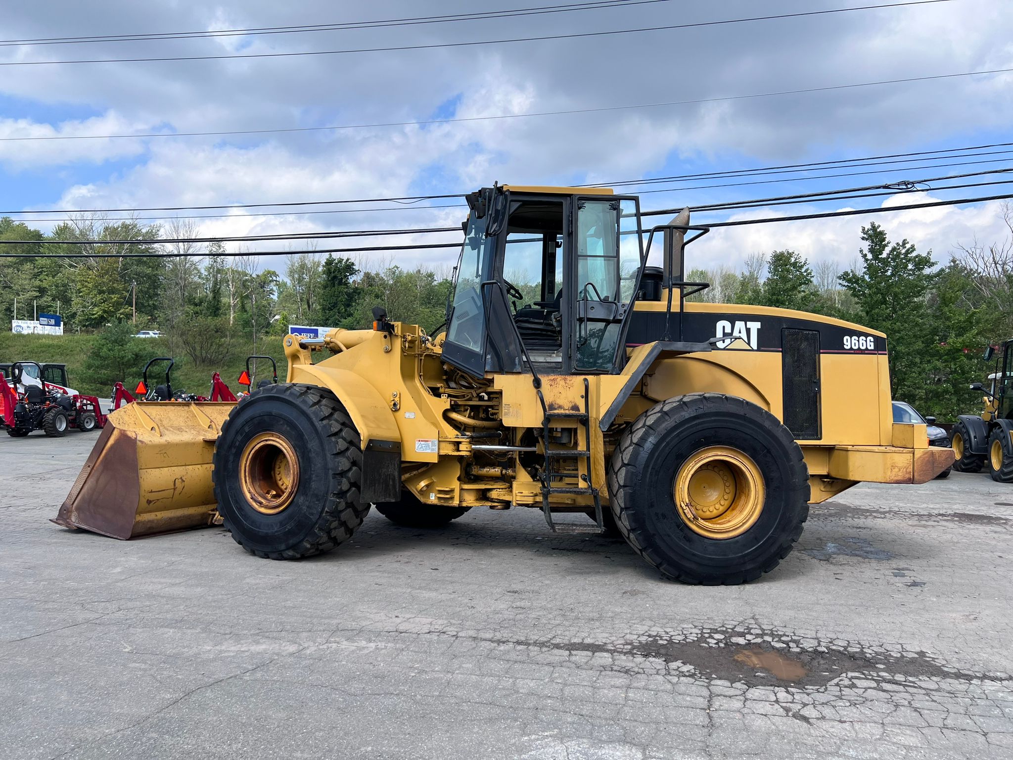
[[[0,440],[0,755],[1011,758],[1013,485],[817,505],[761,581],[663,581],[536,510],[373,512],[257,559],[47,522],[92,436]]]

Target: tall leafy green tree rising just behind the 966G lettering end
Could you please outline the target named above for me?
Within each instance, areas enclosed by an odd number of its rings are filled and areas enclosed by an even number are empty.
[[[926,293],[936,279],[930,253],[913,243],[890,243],[875,222],[862,227],[862,268],[845,272],[841,284],[855,297],[862,323],[886,333],[893,398],[916,406],[926,400],[925,378],[933,346]]]

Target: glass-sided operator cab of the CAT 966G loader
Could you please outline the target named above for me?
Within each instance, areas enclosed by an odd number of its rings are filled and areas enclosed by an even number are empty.
[[[643,269],[635,197],[486,187],[455,274],[444,359],[486,372],[614,373]]]

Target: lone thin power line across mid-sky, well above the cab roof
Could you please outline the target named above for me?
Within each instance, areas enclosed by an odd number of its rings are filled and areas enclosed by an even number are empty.
[[[942,0],[926,0],[931,2],[941,2]],[[9,64],[0,63],[0,66]],[[231,135],[270,135],[280,133],[296,132],[332,132],[339,130],[366,130],[381,129],[388,127],[427,127],[437,124],[463,124],[468,122],[490,122],[506,119],[534,119],[542,117],[559,117],[573,113],[602,113],[615,110],[631,110],[636,108],[660,108],[671,105],[697,105],[700,103],[725,102],[729,100],[751,100],[762,97],[780,97],[783,95],[801,95],[812,92],[830,92],[833,90],[857,89],[860,87],[878,87],[887,84],[907,84],[910,82],[927,82],[938,79],[955,79],[959,77],[984,76],[986,74],[1005,74],[1013,71],[1010,69],[989,69],[986,71],[964,71],[955,74],[935,74],[922,77],[905,77],[902,79],[881,79],[874,82],[856,82],[852,84],[835,84],[824,87],[804,87],[794,90],[774,90],[772,92],[755,92],[746,95],[721,95],[717,97],[697,97],[688,100],[665,100],[653,103],[633,103],[630,105],[603,105],[595,108],[568,108],[564,110],[541,110],[528,113],[497,113],[485,117],[455,117],[453,119],[427,119],[413,122],[375,122],[372,124],[345,124],[330,125],[327,127],[284,127],[267,130],[225,130],[220,132],[145,132],[130,135],[48,135],[42,137],[4,137],[2,142],[28,142],[35,140],[120,140],[120,139],[149,139],[149,138],[173,138],[173,137],[227,137]]]

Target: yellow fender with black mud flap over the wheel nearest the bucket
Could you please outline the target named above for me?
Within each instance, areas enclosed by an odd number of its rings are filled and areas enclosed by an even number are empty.
[[[348,370],[314,364],[291,366],[290,381],[327,388],[352,417],[363,444],[362,498],[401,500],[401,433],[380,391]]]

